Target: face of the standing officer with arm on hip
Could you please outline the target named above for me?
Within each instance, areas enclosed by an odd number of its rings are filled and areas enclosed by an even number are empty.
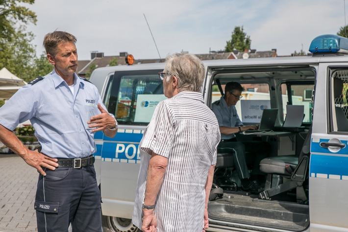
[[[49,61],[54,66],[56,73],[63,79],[72,77],[77,71],[77,50],[75,43],[60,43],[57,54],[53,57],[48,54]]]

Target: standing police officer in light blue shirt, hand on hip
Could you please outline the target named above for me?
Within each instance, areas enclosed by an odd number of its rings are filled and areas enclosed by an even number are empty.
[[[114,137],[117,121],[97,88],[78,77],[74,35],[54,31],[44,46],[54,70],[17,91],[0,108],[0,140],[39,175],[34,208],[39,232],[101,232],[94,133]],[[13,129],[30,120],[41,151],[30,151]]]

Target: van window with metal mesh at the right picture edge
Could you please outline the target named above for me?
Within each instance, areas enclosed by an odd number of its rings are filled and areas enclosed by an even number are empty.
[[[348,132],[348,70],[335,70],[332,82],[332,131]]]

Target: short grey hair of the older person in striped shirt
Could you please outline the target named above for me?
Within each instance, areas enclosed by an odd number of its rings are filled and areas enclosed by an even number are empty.
[[[205,68],[197,56],[175,53],[166,57],[164,73],[169,74],[165,77],[167,82],[170,81],[172,76],[177,78],[177,89],[179,92],[200,92],[204,80]]]

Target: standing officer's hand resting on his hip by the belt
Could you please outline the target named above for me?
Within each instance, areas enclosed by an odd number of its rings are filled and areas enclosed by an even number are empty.
[[[22,156],[22,158],[27,164],[36,168],[38,172],[41,173],[43,176],[46,176],[46,173],[44,172],[43,168],[55,170],[55,168],[58,167],[58,163],[56,163],[58,159],[51,158],[42,153],[38,153],[37,150],[35,151],[29,150],[28,154],[25,156]]]

